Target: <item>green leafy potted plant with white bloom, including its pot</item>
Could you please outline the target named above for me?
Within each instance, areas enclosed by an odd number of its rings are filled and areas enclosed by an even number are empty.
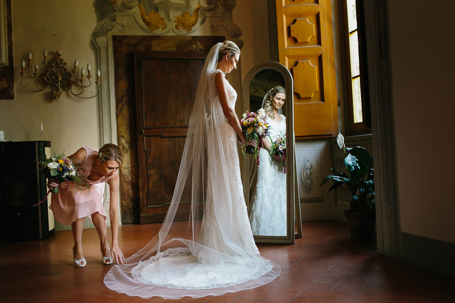
[[[327,194],[341,185],[347,187],[352,195],[351,208],[344,211],[351,237],[366,240],[373,236],[375,226],[375,180],[373,175],[373,156],[363,147],[346,148],[341,133],[337,137],[346,172],[332,168],[332,175],[321,183],[334,180]]]

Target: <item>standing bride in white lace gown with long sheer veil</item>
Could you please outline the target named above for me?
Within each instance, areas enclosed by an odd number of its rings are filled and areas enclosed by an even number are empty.
[[[166,218],[144,248],[106,274],[110,289],[143,298],[196,298],[251,289],[280,274],[276,263],[259,255],[243,196],[237,142],[245,137],[234,111],[237,93],[225,78],[239,57],[231,41],[210,49]],[[191,192],[191,201],[184,192]],[[172,237],[179,208],[188,205],[189,232]]]

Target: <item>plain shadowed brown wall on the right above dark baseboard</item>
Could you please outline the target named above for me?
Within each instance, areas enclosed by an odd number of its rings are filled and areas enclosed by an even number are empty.
[[[453,2],[388,3],[401,230],[455,243]]]

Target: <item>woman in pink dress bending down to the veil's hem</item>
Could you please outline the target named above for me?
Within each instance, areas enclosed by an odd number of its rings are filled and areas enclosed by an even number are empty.
[[[87,264],[82,253],[82,229],[85,217],[90,218],[97,229],[103,264],[112,264],[114,259],[117,264],[123,263],[124,257],[118,246],[118,169],[122,164],[120,148],[112,143],[103,145],[100,150],[85,146],[68,158],[79,167],[77,172],[83,179],[80,182],[82,184],[76,184],[76,181],[58,184],[55,179],[49,179],[48,187],[59,187],[59,192],[52,194],[50,208],[58,222],[71,225],[74,237],[74,266],[84,267]],[[111,248],[107,240],[106,212],[103,206],[105,183],[109,184],[110,193]]]

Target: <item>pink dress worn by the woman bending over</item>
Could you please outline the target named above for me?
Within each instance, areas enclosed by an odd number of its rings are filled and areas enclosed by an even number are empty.
[[[59,184],[59,192],[53,193],[50,209],[55,219],[64,225],[71,225],[79,218],[88,217],[92,220],[92,214],[100,213],[106,218],[106,211],[103,205],[103,194],[106,181],[112,177],[101,177],[100,180],[92,181],[87,177],[92,170],[93,155],[98,150],[92,147],[82,147],[87,151],[85,160],[78,164],[77,172],[81,175],[83,184],[76,186],[76,181],[63,182]],[[75,163],[76,164],[76,163]],[[86,186],[85,180],[89,186]]]

